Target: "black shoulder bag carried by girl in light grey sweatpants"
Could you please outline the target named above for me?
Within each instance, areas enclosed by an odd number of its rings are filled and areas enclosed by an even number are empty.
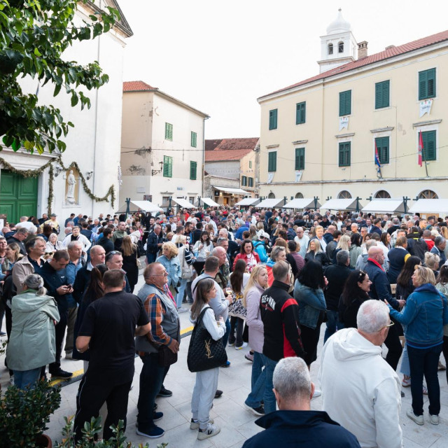
[[[187,356],[187,365],[190,372],[203,372],[220,367],[227,362],[223,339],[215,341],[202,321],[205,311],[209,308],[204,308],[201,311],[190,337]]]

